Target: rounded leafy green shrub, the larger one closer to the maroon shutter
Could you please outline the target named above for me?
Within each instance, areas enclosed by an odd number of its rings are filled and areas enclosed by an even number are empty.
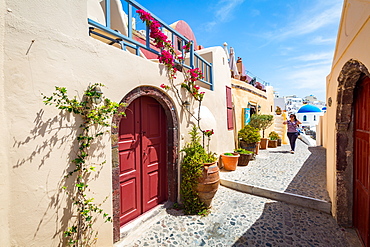
[[[257,143],[261,140],[261,135],[258,129],[246,125],[238,132],[239,145],[241,148],[249,150],[257,154]]]

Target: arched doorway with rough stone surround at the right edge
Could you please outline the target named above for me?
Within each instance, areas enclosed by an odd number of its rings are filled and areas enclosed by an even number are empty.
[[[366,193],[369,187],[363,177],[369,176],[369,173],[363,173],[363,157],[370,154],[369,146],[366,146],[370,141],[366,140],[369,137],[366,133],[370,129],[363,123],[370,116],[364,108],[364,104],[370,104],[366,92],[368,85],[364,84],[368,77],[370,74],[364,64],[349,60],[338,77],[336,109],[335,215],[339,224],[365,229],[360,230],[366,232],[362,233],[365,235],[369,234],[370,214],[369,202],[366,202],[369,201]]]

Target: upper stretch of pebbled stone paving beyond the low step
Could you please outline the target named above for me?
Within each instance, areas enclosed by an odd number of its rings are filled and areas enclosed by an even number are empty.
[[[326,190],[326,150],[297,140],[295,154],[289,145],[260,150],[248,166],[221,170],[221,178],[256,187],[289,192],[330,202]]]

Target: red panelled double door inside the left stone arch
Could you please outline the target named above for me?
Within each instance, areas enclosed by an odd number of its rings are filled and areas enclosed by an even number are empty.
[[[167,200],[166,115],[151,97],[134,100],[119,125],[120,224]]]

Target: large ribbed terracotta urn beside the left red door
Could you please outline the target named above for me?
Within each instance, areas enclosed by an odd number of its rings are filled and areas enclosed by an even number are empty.
[[[198,180],[197,192],[199,199],[207,207],[211,206],[212,199],[215,196],[220,184],[220,173],[217,162],[204,163],[202,176]]]

